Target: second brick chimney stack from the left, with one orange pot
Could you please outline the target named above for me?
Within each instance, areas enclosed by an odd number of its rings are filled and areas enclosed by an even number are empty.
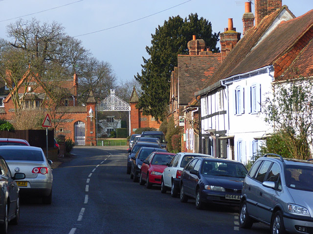
[[[220,33],[222,61],[240,40],[240,35],[241,33],[236,32],[233,27],[233,19],[228,19],[228,28],[224,28],[224,33]]]

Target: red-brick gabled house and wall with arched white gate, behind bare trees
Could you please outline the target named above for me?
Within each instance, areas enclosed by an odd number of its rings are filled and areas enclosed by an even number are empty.
[[[67,90],[67,96],[62,98],[58,105],[51,103],[53,98],[51,98],[47,85],[37,75],[28,75],[24,75],[12,93],[9,92],[6,85],[0,88],[0,98],[2,99],[0,118],[8,121],[14,119],[15,105],[12,95],[16,91],[23,109],[36,110],[41,108],[45,110],[49,107],[50,119],[54,123],[58,122],[57,128],[54,129],[55,136],[65,135],[66,138],[71,138],[75,145],[95,145],[95,117],[89,117],[89,112],[93,115],[96,101],[90,91],[86,105],[77,106],[78,78],[76,73],[72,79],[58,82],[62,89]],[[52,124],[52,128],[54,126]]]

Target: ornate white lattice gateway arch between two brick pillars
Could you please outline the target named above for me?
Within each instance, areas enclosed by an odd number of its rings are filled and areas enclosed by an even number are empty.
[[[110,96],[105,98],[100,102],[100,104],[96,105],[96,137],[98,137],[98,111],[128,111],[129,113],[129,135],[131,135],[131,106],[129,103],[124,101],[121,98],[115,96],[115,90],[110,90]]]

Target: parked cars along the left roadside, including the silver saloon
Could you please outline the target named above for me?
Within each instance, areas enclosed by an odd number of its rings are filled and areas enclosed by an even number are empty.
[[[18,224],[20,194],[40,196],[51,204],[51,164],[41,148],[26,140],[0,138],[0,233],[7,233],[9,222]]]

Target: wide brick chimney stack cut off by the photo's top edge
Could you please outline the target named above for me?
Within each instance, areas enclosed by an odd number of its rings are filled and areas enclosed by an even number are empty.
[[[264,17],[282,7],[282,0],[254,0],[255,4],[255,26]]]

